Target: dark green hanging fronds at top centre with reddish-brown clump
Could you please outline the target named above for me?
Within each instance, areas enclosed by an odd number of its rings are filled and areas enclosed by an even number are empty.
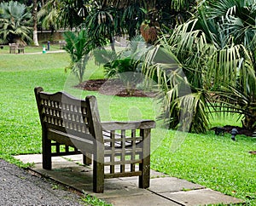
[[[113,43],[114,36],[121,36],[124,33],[129,34],[131,40],[140,31],[144,31],[146,42],[154,43],[160,28],[172,27],[188,20],[191,16],[189,11],[195,10],[196,1],[174,2],[177,3],[162,0],[93,1],[87,4],[89,15],[85,18],[85,25],[96,40],[103,37],[108,39],[109,43]]]

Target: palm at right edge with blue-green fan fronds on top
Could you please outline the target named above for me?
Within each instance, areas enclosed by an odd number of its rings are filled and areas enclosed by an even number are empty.
[[[224,74],[215,83],[221,86],[219,109],[241,114],[242,126],[256,129],[256,2],[222,0],[211,6],[206,16],[223,22],[220,31],[226,39],[225,47],[212,57],[215,72]]]

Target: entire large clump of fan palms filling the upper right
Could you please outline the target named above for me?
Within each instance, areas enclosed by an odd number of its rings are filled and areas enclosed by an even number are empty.
[[[160,39],[172,60],[162,56],[144,68],[148,76],[158,76],[165,91],[163,117],[170,128],[182,123],[182,129],[204,132],[213,108],[240,113],[242,125],[255,129],[255,14],[255,1],[204,2],[194,20]],[[147,64],[155,54],[148,54]],[[180,84],[191,93],[184,94]]]

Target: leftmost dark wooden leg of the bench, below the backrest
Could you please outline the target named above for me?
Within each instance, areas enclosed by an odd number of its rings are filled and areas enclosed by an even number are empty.
[[[43,131],[43,169],[51,169],[51,140],[48,140]]]

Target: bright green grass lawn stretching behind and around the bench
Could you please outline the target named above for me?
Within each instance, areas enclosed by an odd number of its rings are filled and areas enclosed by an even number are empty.
[[[22,165],[12,156],[41,152],[41,126],[33,94],[36,86],[48,92],[65,90],[78,97],[95,94],[102,120],[151,119],[159,113],[158,105],[149,98],[121,98],[74,89],[78,82],[65,72],[68,65],[66,53],[3,54],[0,50],[1,158]],[[102,77],[102,70],[91,60],[84,79]],[[212,120],[212,126],[225,124],[239,122],[235,117],[215,116]],[[230,134],[216,136],[213,131],[185,134],[158,126],[152,134],[151,166],[256,205],[256,156],[248,153],[256,150],[256,140],[243,135],[236,139],[230,140]]]

